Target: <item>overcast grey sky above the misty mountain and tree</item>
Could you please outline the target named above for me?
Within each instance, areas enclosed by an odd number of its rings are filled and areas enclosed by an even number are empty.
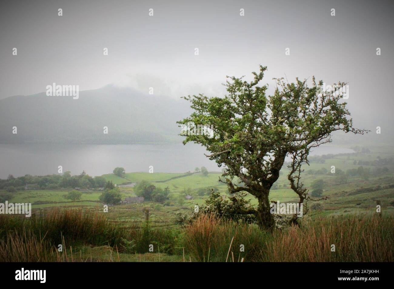
[[[352,113],[392,123],[392,1],[13,0],[0,5],[0,98],[43,92],[53,82],[80,90],[115,83],[143,91],[154,87],[155,94],[174,98],[214,96],[222,92],[225,75],[250,79],[262,64],[268,66],[266,83],[285,74],[289,81],[316,75],[326,83],[349,82]]]

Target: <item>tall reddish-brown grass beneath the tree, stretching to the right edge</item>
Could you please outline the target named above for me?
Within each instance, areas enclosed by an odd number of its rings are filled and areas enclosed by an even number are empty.
[[[197,261],[244,258],[244,261],[265,262],[385,262],[394,261],[393,228],[392,216],[355,216],[320,218],[301,228],[268,233],[255,225],[239,225],[215,215],[201,215],[186,227],[186,247]],[[335,245],[335,252],[331,245]]]

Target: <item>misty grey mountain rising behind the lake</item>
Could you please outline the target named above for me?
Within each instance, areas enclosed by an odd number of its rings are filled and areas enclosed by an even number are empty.
[[[180,141],[176,121],[190,114],[184,99],[112,85],[72,96],[11,96],[0,100],[0,142],[75,144]],[[17,134],[13,134],[13,127]],[[104,134],[103,127],[108,127]]]

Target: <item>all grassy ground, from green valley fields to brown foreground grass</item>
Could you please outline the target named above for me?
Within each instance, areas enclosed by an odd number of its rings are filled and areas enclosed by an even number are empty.
[[[227,195],[219,182],[220,172],[202,173],[126,173],[124,177],[103,175],[114,184],[151,182],[156,188],[168,187],[164,203],[117,204],[103,212],[102,190],[81,189],[78,201],[65,199],[71,189],[20,190],[9,202],[32,203],[30,219],[0,215],[1,261],[393,261],[394,260],[394,166],[368,176],[349,176],[338,181],[331,173],[358,169],[361,161],[390,159],[392,146],[370,147],[368,153],[333,155],[325,162],[305,166],[305,186],[322,179],[323,197],[313,202],[300,227],[286,227],[273,233],[261,232],[254,224],[223,221],[203,215],[193,223],[177,224],[178,213],[191,215],[195,204],[203,204],[208,194],[199,190],[215,188]],[[314,174],[308,171],[320,171]],[[296,202],[289,188],[287,168],[270,191],[270,200]],[[122,199],[134,197],[134,187],[120,187]],[[192,200],[185,196],[191,195]],[[248,196],[251,204],[256,199]],[[376,200],[382,214],[376,214]],[[312,202],[310,202],[312,204]],[[149,221],[144,210],[149,209]],[[335,252],[331,245],[335,245]],[[63,251],[56,250],[58,245]],[[240,250],[241,247],[244,250]],[[28,249],[29,248],[29,249]],[[7,252],[14,252],[13,257]]]

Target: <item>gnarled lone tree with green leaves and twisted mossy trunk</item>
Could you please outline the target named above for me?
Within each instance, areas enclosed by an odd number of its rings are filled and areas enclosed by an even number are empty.
[[[271,230],[275,221],[269,212],[269,190],[279,178],[285,157],[292,160],[288,166],[290,187],[303,203],[309,197],[300,181],[301,165],[308,164],[310,149],[331,142],[333,131],[363,134],[365,130],[353,128],[342,94],[322,91],[323,81],[316,84],[314,77],[312,87],[298,78],[295,83],[275,79],[273,95],[266,96],[268,85],[257,86],[266,69],[260,65],[251,82],[227,76],[224,85],[228,95],[223,98],[203,94],[184,97],[194,112],[178,123],[191,127],[184,144],[203,145],[211,153],[206,155],[210,160],[227,167],[225,180],[219,181],[227,184],[230,193],[246,191],[258,199],[256,209],[239,213],[254,214],[261,229]],[[346,83],[334,85],[339,88]],[[214,136],[193,129],[198,125],[213,125]]]

